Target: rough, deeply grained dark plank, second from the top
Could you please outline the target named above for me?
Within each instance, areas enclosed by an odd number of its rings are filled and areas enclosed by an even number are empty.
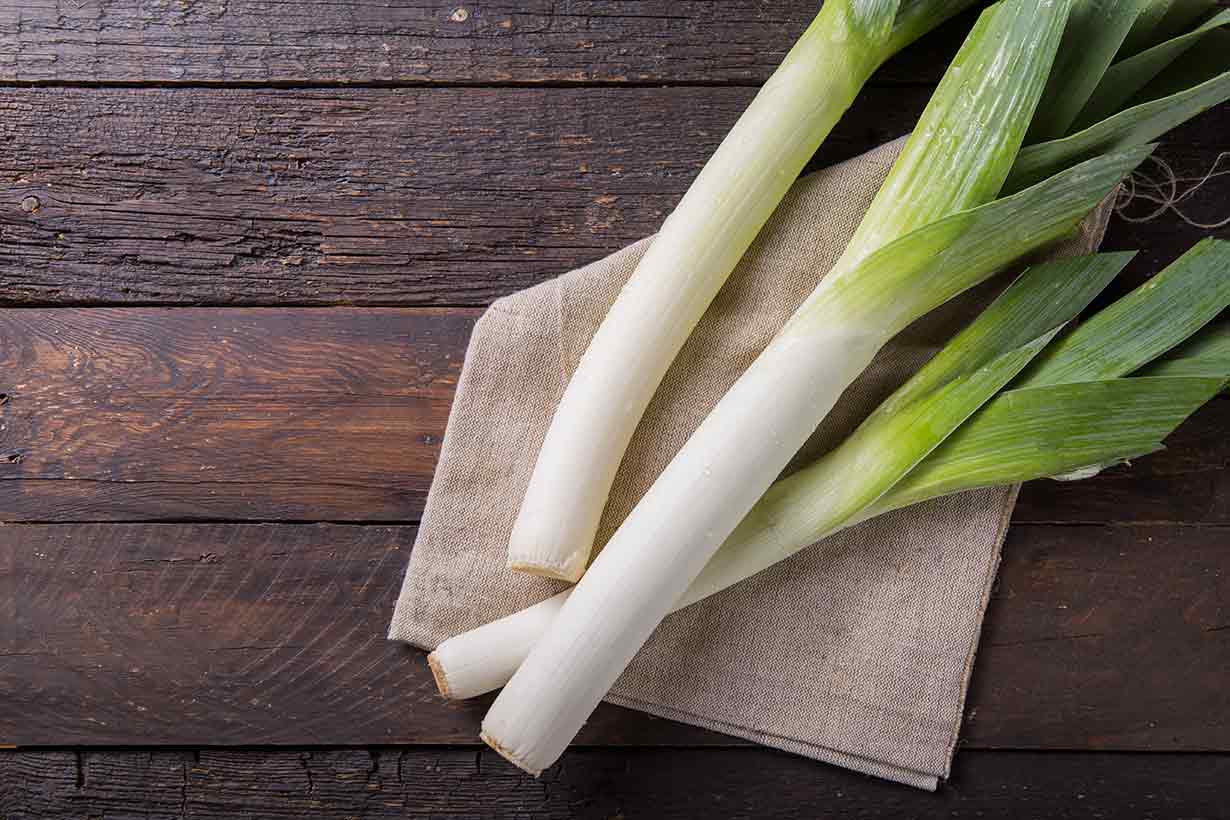
[[[817,162],[927,93],[868,90]],[[0,304],[486,305],[657,230],[752,95],[0,87]],[[1193,175],[1223,149],[1212,112],[1159,152]],[[1186,207],[1224,216],[1226,179]],[[1203,234],[1117,223],[1107,247],[1156,270]]]

